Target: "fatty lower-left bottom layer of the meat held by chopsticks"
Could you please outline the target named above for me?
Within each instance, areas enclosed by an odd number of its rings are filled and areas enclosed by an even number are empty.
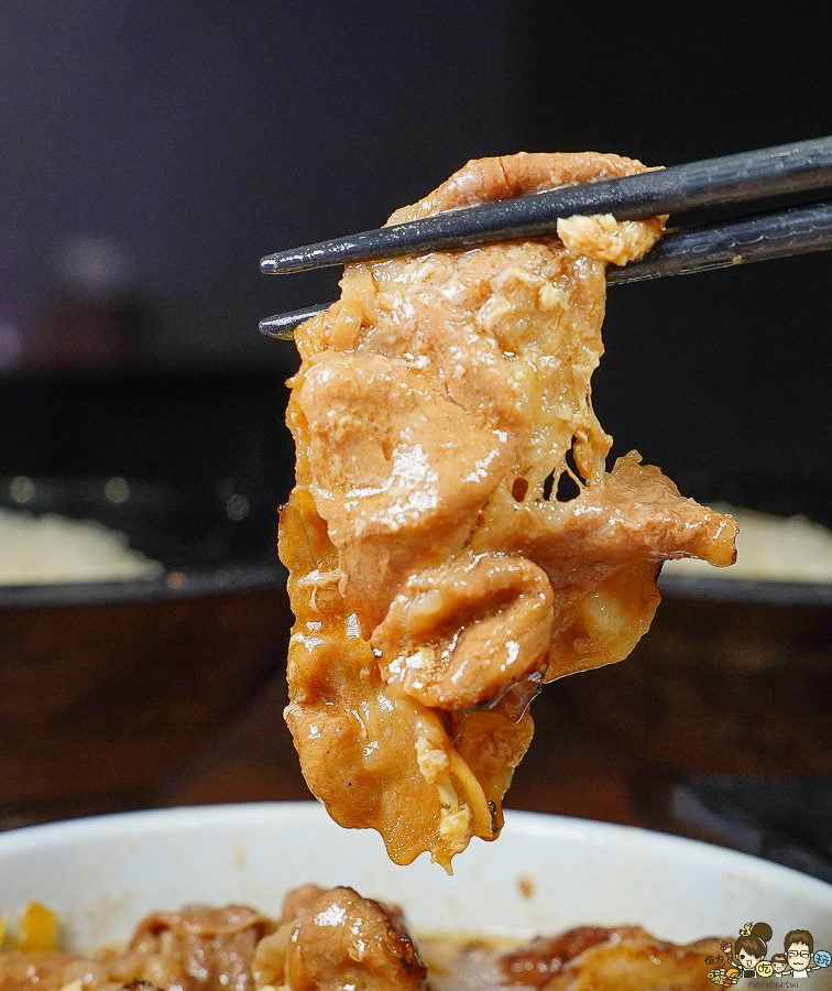
[[[309,787],[342,826],[377,829],[397,863],[444,862],[496,803],[532,739],[530,718],[442,714],[393,695],[338,590],[338,556],[308,490],[282,514],[281,556],[296,616],[286,719]],[[431,847],[425,846],[426,838]]]

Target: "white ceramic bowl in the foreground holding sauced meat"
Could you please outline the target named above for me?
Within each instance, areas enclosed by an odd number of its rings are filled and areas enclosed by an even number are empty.
[[[688,941],[763,919],[775,940],[804,928],[817,948],[832,943],[832,885],[705,843],[529,813],[508,813],[495,842],[474,841],[452,878],[424,858],[395,867],[377,835],[341,829],[314,803],[130,813],[0,835],[0,912],[42,901],[87,948],[187,902],[278,913],[286,891],[307,882],[395,902],[423,933],[638,923]]]

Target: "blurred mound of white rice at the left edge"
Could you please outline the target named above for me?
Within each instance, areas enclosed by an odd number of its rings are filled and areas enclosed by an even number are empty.
[[[164,570],[95,520],[0,509],[0,585],[133,581]]]

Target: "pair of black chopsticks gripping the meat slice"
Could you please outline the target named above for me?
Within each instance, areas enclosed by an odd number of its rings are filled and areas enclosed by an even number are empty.
[[[811,202],[771,209],[782,197]],[[703,211],[720,219],[698,224]],[[261,260],[260,270],[278,275],[552,237],[559,218],[592,214],[612,214],[618,220],[686,215],[637,262],[607,266],[611,285],[826,251],[832,248],[832,137],[448,210],[270,254]],[[260,330],[291,339],[295,327],[330,305],[267,317],[260,322]]]

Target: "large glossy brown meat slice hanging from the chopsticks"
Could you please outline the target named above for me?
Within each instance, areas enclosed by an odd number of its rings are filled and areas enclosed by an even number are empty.
[[[643,168],[488,159],[391,219]],[[590,402],[605,264],[661,227],[570,218],[560,238],[351,265],[296,333],[286,716],[315,794],[396,862],[494,838],[539,684],[630,653],[663,559],[733,559],[730,518],[635,453],[606,471]]]

